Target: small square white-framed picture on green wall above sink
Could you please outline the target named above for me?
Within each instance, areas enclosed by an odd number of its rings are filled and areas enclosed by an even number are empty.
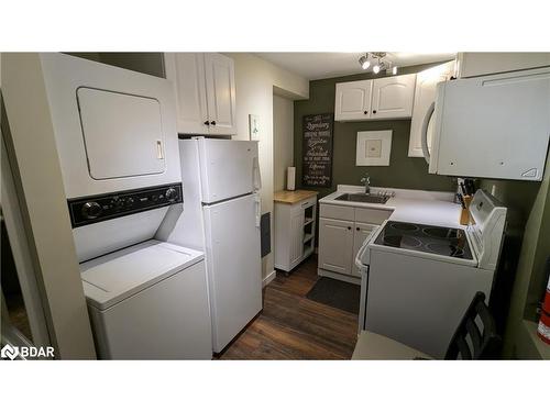
[[[356,166],[389,166],[391,130],[358,132]]]

